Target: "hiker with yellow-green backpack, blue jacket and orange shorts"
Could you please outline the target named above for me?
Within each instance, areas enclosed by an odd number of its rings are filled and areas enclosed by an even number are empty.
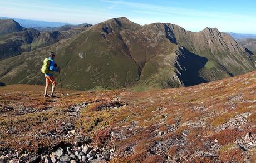
[[[48,86],[50,85],[50,83],[52,83],[52,92],[50,95],[50,97],[52,98],[52,97],[55,97],[53,95],[53,93],[55,91],[55,86],[56,86],[56,81],[55,81],[55,77],[53,76],[53,72],[60,71],[60,67],[57,68],[57,64],[54,63],[55,53],[49,52],[49,56],[50,57],[43,60],[43,66],[42,66],[41,71],[42,71],[42,73],[45,73],[45,79],[46,79],[45,96],[44,97],[49,96],[47,94]]]

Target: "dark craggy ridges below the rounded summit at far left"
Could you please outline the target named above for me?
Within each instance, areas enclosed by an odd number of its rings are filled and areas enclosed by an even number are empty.
[[[3,24],[0,24],[3,27]],[[41,32],[32,28],[23,31],[12,32],[0,36],[0,60],[21,54],[22,52],[32,51],[37,48],[52,45],[84,31],[87,26],[70,28],[64,31]],[[56,28],[57,29],[57,28]]]

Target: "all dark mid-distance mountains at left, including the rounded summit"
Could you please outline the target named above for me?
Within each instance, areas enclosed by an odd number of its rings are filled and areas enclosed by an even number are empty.
[[[0,19],[0,60],[52,45],[61,39],[75,36],[90,26],[90,24],[65,25],[42,28],[42,31],[38,31],[21,27],[12,19]]]

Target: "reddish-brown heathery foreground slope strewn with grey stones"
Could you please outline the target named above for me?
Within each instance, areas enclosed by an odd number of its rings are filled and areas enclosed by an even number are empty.
[[[256,162],[256,72],[132,92],[0,88],[0,162]]]

